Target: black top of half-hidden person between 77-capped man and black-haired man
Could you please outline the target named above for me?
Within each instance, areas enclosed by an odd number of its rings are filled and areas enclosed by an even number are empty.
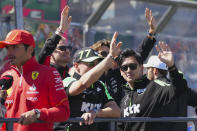
[[[155,42],[156,42],[155,38],[150,39],[149,37],[145,37],[142,43],[139,45],[137,52],[138,55],[141,56],[143,61],[145,61],[146,58],[148,57]],[[120,74],[120,69],[117,68],[117,69],[108,70],[107,74],[102,75],[100,80],[102,80],[107,85],[110,95],[114,98],[114,101],[120,107],[120,101],[122,99],[122,92],[123,92],[121,87],[126,83],[126,81]],[[117,123],[117,125],[118,125],[117,130],[122,130],[122,124]],[[109,124],[106,122],[99,123],[98,130],[108,131]]]

